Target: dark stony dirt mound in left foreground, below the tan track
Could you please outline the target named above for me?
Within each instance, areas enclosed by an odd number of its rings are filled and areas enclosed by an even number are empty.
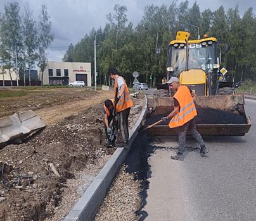
[[[113,153],[102,145],[101,111],[102,104],[96,105],[48,126],[25,143],[8,145],[0,151],[0,161],[16,171],[0,178],[6,181],[0,186],[0,220],[43,220],[52,215],[45,213],[46,205],[49,201],[58,204],[66,179],[86,164],[95,164],[101,155]]]

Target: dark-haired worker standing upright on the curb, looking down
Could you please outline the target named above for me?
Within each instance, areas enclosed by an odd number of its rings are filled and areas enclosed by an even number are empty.
[[[128,117],[130,114],[130,109],[133,106],[132,97],[129,93],[129,89],[125,83],[122,76],[118,75],[116,68],[110,68],[108,75],[112,80],[115,81],[114,84],[114,103],[116,105],[118,128],[122,134],[122,145],[127,146],[129,142],[129,126]]]

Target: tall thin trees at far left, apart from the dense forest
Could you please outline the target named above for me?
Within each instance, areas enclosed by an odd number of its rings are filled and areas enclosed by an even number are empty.
[[[38,61],[41,73],[46,68],[46,49],[53,42],[51,34],[51,21],[47,8],[42,5],[39,25],[33,18],[29,4],[25,4],[24,15],[20,16],[18,3],[7,3],[4,13],[0,15],[0,69],[3,72],[8,69],[11,79],[11,69],[16,70],[17,84],[18,74],[23,76],[25,82],[25,70],[30,70]],[[17,70],[20,71],[17,71]],[[19,73],[18,73],[19,72]]]

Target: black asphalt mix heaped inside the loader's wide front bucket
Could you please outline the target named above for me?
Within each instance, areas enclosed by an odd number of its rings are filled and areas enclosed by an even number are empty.
[[[246,117],[232,112],[220,111],[217,109],[203,109],[196,108],[196,124],[246,124]],[[146,119],[146,125],[153,124],[159,121],[162,117],[166,117],[170,112],[164,114],[157,114]],[[167,125],[169,122],[165,121],[159,125]]]

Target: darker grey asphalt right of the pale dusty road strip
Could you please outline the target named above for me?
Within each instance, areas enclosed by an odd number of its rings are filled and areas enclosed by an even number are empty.
[[[191,152],[180,165],[185,220],[256,220],[256,100],[245,109],[249,133],[205,138],[208,157]]]

